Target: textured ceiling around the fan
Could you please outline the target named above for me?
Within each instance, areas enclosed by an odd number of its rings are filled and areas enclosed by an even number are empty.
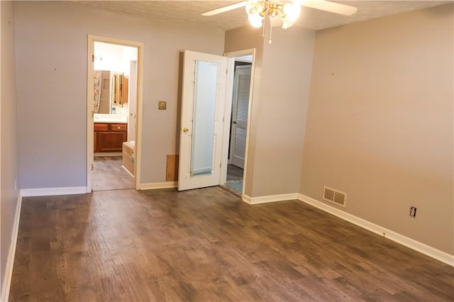
[[[244,8],[235,9],[216,16],[201,16],[205,11],[235,4],[236,1],[74,1],[104,11],[114,11],[130,16],[167,20],[177,23],[196,23],[204,26],[229,30],[248,25]],[[295,26],[319,30],[347,23],[389,16],[405,11],[414,11],[430,6],[452,3],[453,1],[334,1],[358,7],[353,16],[341,16],[317,9],[302,7],[301,16]]]

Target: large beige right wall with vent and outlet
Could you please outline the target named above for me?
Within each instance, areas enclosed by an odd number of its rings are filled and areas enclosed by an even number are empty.
[[[318,31],[301,194],[453,255],[453,73],[452,4]]]

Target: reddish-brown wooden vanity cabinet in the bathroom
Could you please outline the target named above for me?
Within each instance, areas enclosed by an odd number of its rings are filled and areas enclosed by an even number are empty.
[[[94,152],[121,152],[127,131],[126,123],[94,123]]]

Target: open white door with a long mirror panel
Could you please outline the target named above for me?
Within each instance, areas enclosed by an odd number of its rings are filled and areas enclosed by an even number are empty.
[[[184,51],[179,191],[220,184],[227,62]]]

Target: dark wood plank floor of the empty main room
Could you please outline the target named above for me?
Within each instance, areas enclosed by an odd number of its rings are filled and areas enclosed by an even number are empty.
[[[454,269],[219,187],[23,198],[10,301],[453,301]]]

